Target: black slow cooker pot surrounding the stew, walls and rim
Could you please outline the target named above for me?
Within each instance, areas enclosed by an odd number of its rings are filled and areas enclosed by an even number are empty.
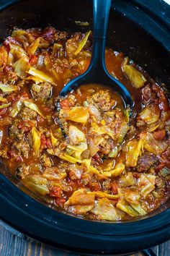
[[[7,2],[0,0],[0,35],[3,36],[14,26],[44,27],[50,23],[61,30],[84,31],[92,25],[92,7],[88,0],[30,0],[17,4],[14,2],[18,1],[11,1],[13,5]],[[74,20],[88,21],[89,27],[79,27]],[[168,85],[169,25],[170,7],[164,1],[115,0],[107,46],[124,52],[151,77],[161,77]],[[41,242],[79,253],[121,255],[170,239],[170,201],[136,221],[87,221],[46,207],[31,192],[27,191],[27,195],[18,189],[16,183],[1,164],[0,218]]]

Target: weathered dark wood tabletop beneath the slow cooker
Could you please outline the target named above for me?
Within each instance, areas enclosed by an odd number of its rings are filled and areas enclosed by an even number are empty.
[[[20,235],[21,236],[21,235]],[[170,241],[152,248],[158,256],[170,256]],[[40,242],[27,241],[0,226],[0,256],[77,256],[71,252],[49,247]],[[131,256],[142,256],[141,253]]]

